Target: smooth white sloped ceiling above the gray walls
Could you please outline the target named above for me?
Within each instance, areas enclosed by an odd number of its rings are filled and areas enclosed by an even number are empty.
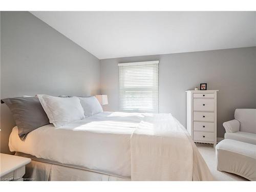
[[[99,59],[256,46],[256,12],[31,13]]]

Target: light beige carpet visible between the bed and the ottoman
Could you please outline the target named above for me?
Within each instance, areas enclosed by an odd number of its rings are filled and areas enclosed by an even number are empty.
[[[212,144],[196,143],[196,145],[205,162],[207,163],[212,175],[217,181],[248,181],[247,179],[238,175],[219,172],[217,170],[215,149]]]

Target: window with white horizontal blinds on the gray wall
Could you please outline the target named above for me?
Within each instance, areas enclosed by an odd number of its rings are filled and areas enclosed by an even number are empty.
[[[158,113],[159,61],[119,63],[119,110]]]

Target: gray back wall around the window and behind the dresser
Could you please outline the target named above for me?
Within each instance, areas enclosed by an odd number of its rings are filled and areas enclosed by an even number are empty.
[[[256,108],[256,47],[100,60],[101,94],[108,95],[104,110],[118,111],[119,62],[160,60],[159,112],[172,113],[186,126],[186,90],[206,82],[217,93],[217,137],[222,123],[233,119],[236,108]]]

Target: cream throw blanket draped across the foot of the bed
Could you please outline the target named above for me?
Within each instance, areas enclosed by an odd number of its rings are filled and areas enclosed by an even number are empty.
[[[171,114],[146,114],[131,137],[134,181],[213,180],[182,124]]]

